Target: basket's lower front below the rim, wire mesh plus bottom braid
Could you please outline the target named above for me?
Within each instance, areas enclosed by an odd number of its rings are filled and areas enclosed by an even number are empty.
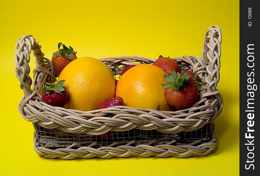
[[[194,131],[168,134],[156,130],[109,131],[103,135],[66,133],[35,124],[35,150],[47,158],[204,156],[215,149],[213,123]],[[37,137],[36,137],[37,136]]]

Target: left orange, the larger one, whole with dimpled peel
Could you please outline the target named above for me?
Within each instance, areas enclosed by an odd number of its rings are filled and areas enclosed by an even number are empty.
[[[111,70],[93,57],[80,57],[69,63],[58,80],[65,79],[70,100],[67,109],[91,111],[98,105],[115,97],[115,79]]]

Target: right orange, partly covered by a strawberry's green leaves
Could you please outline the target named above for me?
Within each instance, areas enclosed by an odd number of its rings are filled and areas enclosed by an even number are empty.
[[[141,64],[132,67],[120,77],[116,96],[124,99],[125,106],[169,111],[169,105],[164,97],[166,74],[161,68]]]

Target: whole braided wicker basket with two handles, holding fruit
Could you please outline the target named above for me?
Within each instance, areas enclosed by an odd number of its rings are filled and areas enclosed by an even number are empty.
[[[180,70],[192,70],[205,83],[199,101],[180,111],[115,106],[85,112],[45,104],[40,95],[44,81],[56,81],[51,60],[43,57],[41,45],[31,35],[22,36],[17,41],[15,74],[24,91],[18,107],[21,116],[33,123],[34,150],[39,155],[62,159],[129,156],[183,158],[204,156],[216,147],[217,135],[212,122],[223,107],[223,98],[216,89],[222,41],[218,26],[207,30],[202,58],[174,58]],[[33,81],[28,65],[31,50],[36,57]],[[155,59],[140,56],[99,60],[112,70],[115,79],[120,78],[127,65],[155,62]]]

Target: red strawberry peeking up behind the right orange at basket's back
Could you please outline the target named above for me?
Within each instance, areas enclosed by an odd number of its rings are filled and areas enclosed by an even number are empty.
[[[179,72],[178,62],[169,57],[162,57],[162,55],[159,56],[153,65],[162,68],[162,70],[164,70],[168,75],[172,73],[172,70],[174,70],[176,73]]]

